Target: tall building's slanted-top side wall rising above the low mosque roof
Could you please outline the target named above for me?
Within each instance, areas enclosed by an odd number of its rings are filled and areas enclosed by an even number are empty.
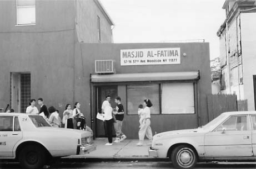
[[[78,40],[83,43],[112,43],[111,24],[96,3],[93,0],[77,0],[76,6]],[[101,41],[98,41],[97,16],[101,21]]]

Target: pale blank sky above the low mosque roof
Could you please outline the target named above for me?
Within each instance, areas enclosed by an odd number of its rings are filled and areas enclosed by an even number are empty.
[[[219,56],[217,30],[225,0],[101,0],[112,18],[114,43],[205,39],[210,59]]]

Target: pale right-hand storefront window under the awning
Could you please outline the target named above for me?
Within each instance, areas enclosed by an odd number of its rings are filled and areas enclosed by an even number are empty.
[[[194,84],[162,84],[162,114],[194,114]]]

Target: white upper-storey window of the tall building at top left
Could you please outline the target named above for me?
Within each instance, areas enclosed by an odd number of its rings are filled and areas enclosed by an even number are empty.
[[[36,0],[16,0],[17,25],[36,24]]]

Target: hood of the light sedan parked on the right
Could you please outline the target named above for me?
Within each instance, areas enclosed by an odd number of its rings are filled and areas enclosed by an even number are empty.
[[[202,128],[198,129],[185,129],[185,130],[173,130],[173,131],[166,131],[163,133],[159,133],[154,135],[154,138],[162,138],[162,137],[170,137],[170,136],[186,136],[186,135],[201,135],[204,134],[205,130]]]

